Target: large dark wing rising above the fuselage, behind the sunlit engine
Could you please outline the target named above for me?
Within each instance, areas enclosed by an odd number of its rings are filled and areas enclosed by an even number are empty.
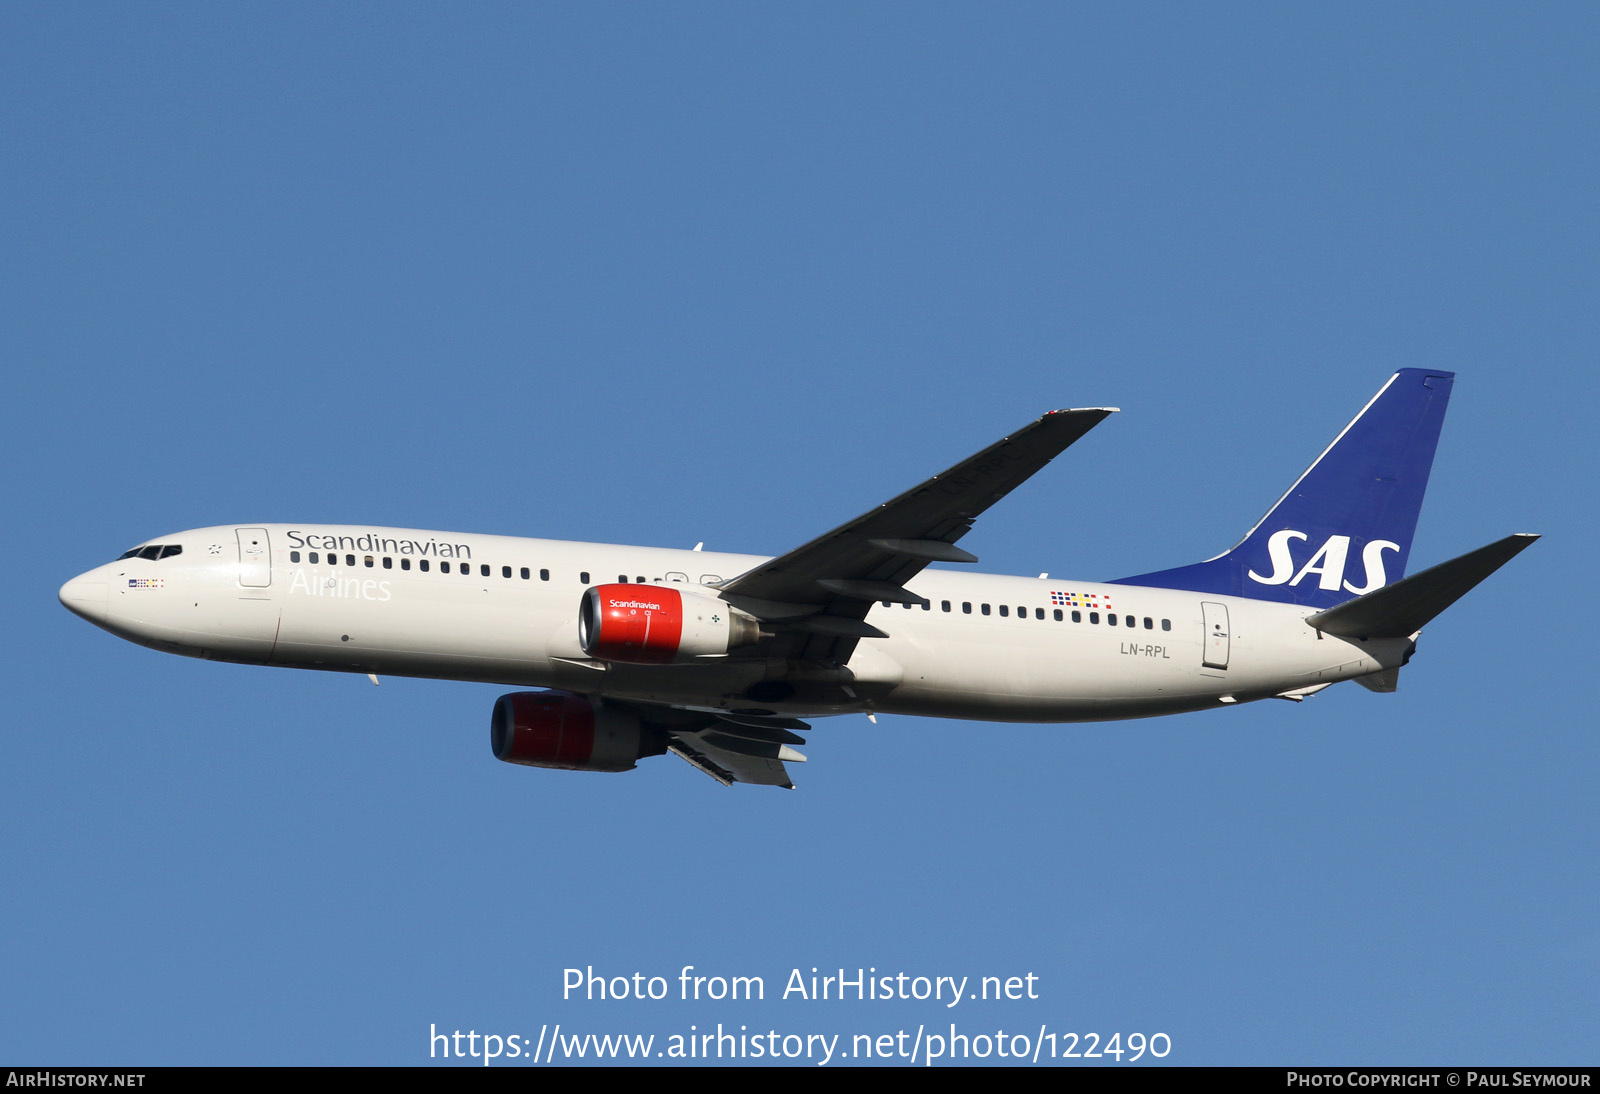
[[[875,601],[922,603],[906,589],[930,561],[974,563],[955,542],[973,521],[1117,408],[1059,409],[811,542],[720,585],[722,598],[778,627],[758,656],[843,664]]]

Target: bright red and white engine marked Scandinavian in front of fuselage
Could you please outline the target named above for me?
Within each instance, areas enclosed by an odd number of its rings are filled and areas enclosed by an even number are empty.
[[[578,608],[578,645],[600,661],[664,665],[760,637],[757,621],[726,601],[670,585],[595,585]]]

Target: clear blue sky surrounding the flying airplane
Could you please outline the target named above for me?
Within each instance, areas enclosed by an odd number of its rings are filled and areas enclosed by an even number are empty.
[[[0,1060],[1120,1032],[1594,1062],[1586,5],[0,8],[16,581]],[[1413,549],[1546,533],[1392,696],[821,721],[794,793],[496,763],[478,685],[216,665],[56,603],[162,533],[781,552],[1056,406],[998,573],[1232,544],[1403,366]],[[1563,593],[1562,590],[1566,589]],[[562,1000],[693,964],[760,1003]],[[1038,977],[806,1003],[792,969]]]

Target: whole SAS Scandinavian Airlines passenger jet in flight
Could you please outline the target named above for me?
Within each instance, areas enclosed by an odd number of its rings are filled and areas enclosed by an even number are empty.
[[[1109,582],[971,565],[974,520],[1115,408],[1045,414],[774,558],[400,528],[158,536],[61,587],[152,649],[538,688],[499,760],[627,771],[667,752],[792,789],[803,718],[1106,721],[1397,688],[1422,627],[1533,544],[1406,576],[1453,373],[1406,368],[1232,549]],[[614,577],[614,581],[613,581]]]

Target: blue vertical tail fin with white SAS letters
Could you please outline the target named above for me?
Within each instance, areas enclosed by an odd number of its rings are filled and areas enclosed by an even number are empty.
[[[1331,608],[1402,577],[1453,382],[1400,369],[1226,555],[1112,584]]]

